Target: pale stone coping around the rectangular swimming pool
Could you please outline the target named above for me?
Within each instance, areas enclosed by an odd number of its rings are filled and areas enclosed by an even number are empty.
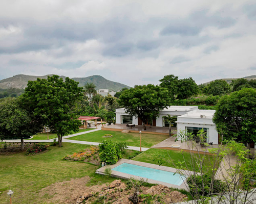
[[[138,161],[134,161],[134,160],[121,159],[114,165],[106,165],[106,166],[103,166],[103,167],[97,169],[95,173],[105,174],[105,168],[110,167],[111,169],[113,169],[116,166],[121,165],[122,163],[134,164],[134,165],[138,165],[138,166],[143,166],[143,167],[148,167],[148,168],[153,168],[153,169],[158,169],[158,170],[163,170],[163,171],[176,172],[176,169],[172,168],[172,167],[159,166],[159,165],[156,165],[156,164],[150,164],[150,163],[138,162]],[[191,172],[191,171],[187,171],[187,170],[184,170],[184,171]],[[115,176],[115,177],[118,177],[120,179],[130,179],[130,177],[133,177],[134,179],[144,179],[147,183],[150,183],[150,184],[162,184],[162,185],[167,186],[169,188],[185,189],[186,191],[189,191],[189,188],[187,186],[186,181],[183,181],[183,183],[180,186],[178,186],[178,185],[169,184],[169,183],[165,183],[165,182],[160,182],[160,181],[153,180],[153,179],[147,179],[145,177],[136,176],[136,175],[132,175],[132,174],[128,174],[128,173],[122,173],[122,172],[114,171],[114,170],[112,170],[111,175]]]

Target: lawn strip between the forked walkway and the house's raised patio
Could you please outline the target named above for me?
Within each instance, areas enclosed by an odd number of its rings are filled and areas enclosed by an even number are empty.
[[[103,135],[111,134],[113,137],[103,138]],[[165,139],[168,135],[154,135],[154,134],[141,134],[141,146],[151,147]],[[84,135],[78,135],[68,138],[70,140],[80,140],[87,142],[102,142],[103,140],[113,142],[127,142],[129,146],[140,146],[140,134],[139,133],[121,133],[118,131],[96,131]]]

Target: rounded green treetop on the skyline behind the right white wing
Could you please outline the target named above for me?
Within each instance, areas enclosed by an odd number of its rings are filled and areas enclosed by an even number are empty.
[[[212,81],[204,88],[204,93],[207,95],[224,95],[230,92],[230,86],[224,80]]]

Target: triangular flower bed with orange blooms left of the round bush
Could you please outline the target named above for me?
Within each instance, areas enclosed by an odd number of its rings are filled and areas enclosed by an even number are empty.
[[[81,150],[79,152],[75,152],[73,155],[68,155],[63,158],[63,160],[69,161],[83,161],[83,162],[91,162],[93,164],[98,162],[98,151],[99,147],[90,146],[90,148]]]

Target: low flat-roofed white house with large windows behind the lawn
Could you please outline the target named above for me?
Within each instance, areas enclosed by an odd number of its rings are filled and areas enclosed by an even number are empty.
[[[142,125],[140,118],[125,113],[124,108],[116,109],[116,124],[135,124]],[[214,110],[199,110],[197,106],[170,106],[167,109],[159,111],[159,116],[152,121],[147,121],[146,125],[157,127],[169,126],[164,122],[163,116],[178,116],[177,131],[193,132],[197,134],[202,128],[207,133],[207,142],[218,144],[218,132],[216,125],[212,122]]]

